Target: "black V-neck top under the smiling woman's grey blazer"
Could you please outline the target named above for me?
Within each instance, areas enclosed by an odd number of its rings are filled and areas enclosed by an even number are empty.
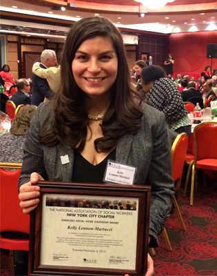
[[[87,161],[79,152],[74,152],[72,182],[103,183],[107,160],[116,159],[116,148],[96,166]]]

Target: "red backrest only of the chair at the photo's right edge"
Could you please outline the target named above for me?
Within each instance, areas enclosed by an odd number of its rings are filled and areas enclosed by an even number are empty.
[[[217,121],[205,121],[194,127],[195,161],[217,159]]]

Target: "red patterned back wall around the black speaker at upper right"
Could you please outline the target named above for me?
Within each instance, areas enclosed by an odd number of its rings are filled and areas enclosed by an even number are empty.
[[[203,72],[205,66],[211,66],[207,59],[207,44],[217,43],[217,31],[185,32],[171,34],[169,52],[174,57],[174,73]],[[217,68],[217,59],[212,59],[212,69]]]

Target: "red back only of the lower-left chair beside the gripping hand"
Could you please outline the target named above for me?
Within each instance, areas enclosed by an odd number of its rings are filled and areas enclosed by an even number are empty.
[[[21,165],[0,163],[0,232],[30,233],[30,216],[23,214],[17,191]],[[17,170],[5,168],[17,168]]]

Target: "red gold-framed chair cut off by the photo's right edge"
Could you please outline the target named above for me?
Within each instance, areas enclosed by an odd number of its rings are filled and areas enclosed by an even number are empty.
[[[192,166],[190,205],[193,205],[194,178],[197,187],[197,169],[217,170],[217,121],[206,121],[194,127],[195,159]]]

